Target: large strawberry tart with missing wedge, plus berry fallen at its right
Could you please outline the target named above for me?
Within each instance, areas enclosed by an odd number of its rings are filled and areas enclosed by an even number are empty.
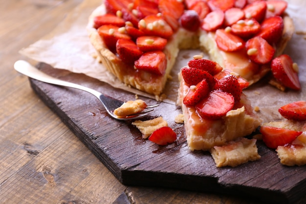
[[[286,7],[284,0],[104,0],[87,30],[111,73],[159,99],[180,49],[205,50],[249,85],[259,81],[293,34]],[[274,84],[298,90],[290,60],[273,72]]]

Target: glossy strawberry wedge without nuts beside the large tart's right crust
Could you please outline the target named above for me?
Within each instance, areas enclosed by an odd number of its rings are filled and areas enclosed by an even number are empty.
[[[284,21],[280,16],[273,16],[261,23],[261,31],[256,35],[262,37],[269,44],[277,43],[283,34]]]

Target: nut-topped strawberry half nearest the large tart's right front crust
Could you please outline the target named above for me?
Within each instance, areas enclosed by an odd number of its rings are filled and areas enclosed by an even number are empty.
[[[269,63],[275,53],[275,49],[261,37],[254,37],[245,44],[250,60],[264,65]]]

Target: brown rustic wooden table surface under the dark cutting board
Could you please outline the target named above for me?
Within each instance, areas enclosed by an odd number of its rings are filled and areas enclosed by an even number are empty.
[[[82,0],[2,0],[0,203],[259,204],[249,199],[122,185],[29,86],[13,64]],[[305,203],[306,198],[299,202]]]

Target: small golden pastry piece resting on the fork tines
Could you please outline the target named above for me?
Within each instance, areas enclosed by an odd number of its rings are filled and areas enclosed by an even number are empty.
[[[146,102],[141,99],[135,101],[127,101],[122,106],[114,110],[114,114],[119,117],[141,113],[147,107]]]

